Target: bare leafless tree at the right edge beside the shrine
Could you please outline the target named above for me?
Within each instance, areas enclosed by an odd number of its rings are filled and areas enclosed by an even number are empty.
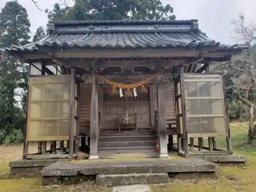
[[[232,22],[233,38],[244,41],[251,48],[239,55],[234,56],[231,61],[215,63],[214,70],[231,74],[233,89],[250,109],[250,120],[248,127],[248,143],[256,142],[256,124],[254,124],[254,113],[256,112],[256,24],[246,24],[245,14],[239,13],[239,18]],[[253,97],[249,95],[252,93]]]

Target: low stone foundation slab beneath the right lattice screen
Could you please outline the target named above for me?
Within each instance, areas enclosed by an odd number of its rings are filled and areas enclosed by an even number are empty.
[[[213,163],[245,163],[245,156],[230,154],[230,155],[203,155],[200,158]]]

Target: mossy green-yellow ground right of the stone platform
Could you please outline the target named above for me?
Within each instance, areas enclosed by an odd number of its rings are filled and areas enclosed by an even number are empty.
[[[246,157],[244,166],[219,166],[217,179],[175,180],[172,183],[152,185],[152,192],[254,192],[256,191],[256,147],[247,144],[247,125],[236,123],[230,125],[233,151]],[[225,147],[225,138],[218,139],[218,145]]]

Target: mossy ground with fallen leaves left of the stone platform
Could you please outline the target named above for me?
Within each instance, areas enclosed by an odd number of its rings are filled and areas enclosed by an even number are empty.
[[[36,152],[37,145],[31,145],[29,150]],[[9,161],[20,159],[22,152],[22,145],[0,145],[0,192],[112,192],[111,187],[98,187],[92,183],[42,186],[40,178],[12,179],[9,176]]]

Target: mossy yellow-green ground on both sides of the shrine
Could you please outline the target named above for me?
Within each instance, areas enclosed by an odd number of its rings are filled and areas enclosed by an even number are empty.
[[[176,180],[173,183],[152,185],[153,192],[172,192],[172,191],[256,191],[256,147],[246,144],[247,127],[241,123],[234,123],[230,126],[232,132],[233,151],[236,154],[246,156],[247,162],[245,166],[229,167],[221,166],[218,171],[218,179],[214,180]],[[218,145],[224,146],[225,139],[218,140]],[[36,152],[37,146],[31,145],[30,152]],[[90,183],[81,185],[62,186],[52,185],[42,187],[40,180],[35,179],[10,179],[7,177],[9,173],[9,161],[22,157],[22,145],[0,146],[0,192],[69,192],[69,191],[112,191],[110,187],[95,187]]]

